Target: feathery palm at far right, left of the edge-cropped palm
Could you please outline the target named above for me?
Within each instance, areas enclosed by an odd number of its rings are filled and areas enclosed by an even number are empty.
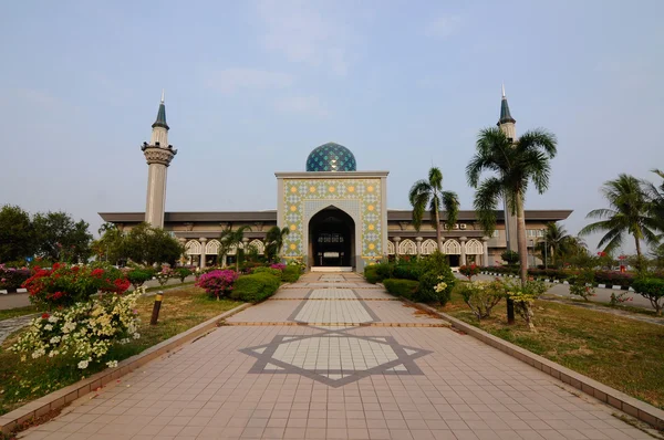
[[[652,216],[653,205],[643,182],[634,176],[621,174],[615,180],[605,181],[601,192],[609,209],[594,209],[585,216],[591,219],[604,219],[588,224],[579,234],[588,235],[594,232],[606,232],[598,248],[604,247],[604,252],[611,253],[620,249],[625,235],[634,238],[636,256],[641,260],[641,241],[656,243],[658,219]]]

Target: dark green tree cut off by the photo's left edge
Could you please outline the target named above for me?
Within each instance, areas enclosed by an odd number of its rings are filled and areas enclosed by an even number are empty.
[[[34,233],[30,214],[20,207],[0,209],[0,263],[24,260],[34,253]]]

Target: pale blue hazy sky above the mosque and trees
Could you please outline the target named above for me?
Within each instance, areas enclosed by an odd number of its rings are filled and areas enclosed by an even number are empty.
[[[4,2],[0,203],[95,232],[96,212],[143,211],[166,88],[167,210],[273,209],[273,172],[326,142],[391,171],[390,208],[434,164],[470,209],[464,168],[505,82],[517,132],[559,139],[526,206],[573,209],[575,233],[603,181],[664,168],[662,17],[656,0]]]

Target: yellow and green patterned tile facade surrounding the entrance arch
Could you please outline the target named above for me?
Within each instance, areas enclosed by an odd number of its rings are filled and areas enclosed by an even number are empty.
[[[307,223],[314,211],[333,205],[353,217],[355,223],[359,219],[359,228],[355,224],[361,234],[359,256],[365,260],[381,258],[384,227],[381,191],[381,179],[284,179],[281,220],[291,231],[284,240],[284,256],[307,256]]]

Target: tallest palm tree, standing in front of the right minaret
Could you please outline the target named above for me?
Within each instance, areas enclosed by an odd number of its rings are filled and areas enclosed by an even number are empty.
[[[505,199],[511,213],[517,216],[521,283],[526,283],[528,276],[523,196],[530,182],[539,193],[549,187],[550,160],[556,157],[556,136],[543,129],[526,132],[512,142],[500,128],[485,128],[479,132],[475,156],[466,167],[468,184],[477,189],[475,210],[487,234],[496,228],[496,208],[500,200]],[[496,175],[480,182],[484,171]]]

